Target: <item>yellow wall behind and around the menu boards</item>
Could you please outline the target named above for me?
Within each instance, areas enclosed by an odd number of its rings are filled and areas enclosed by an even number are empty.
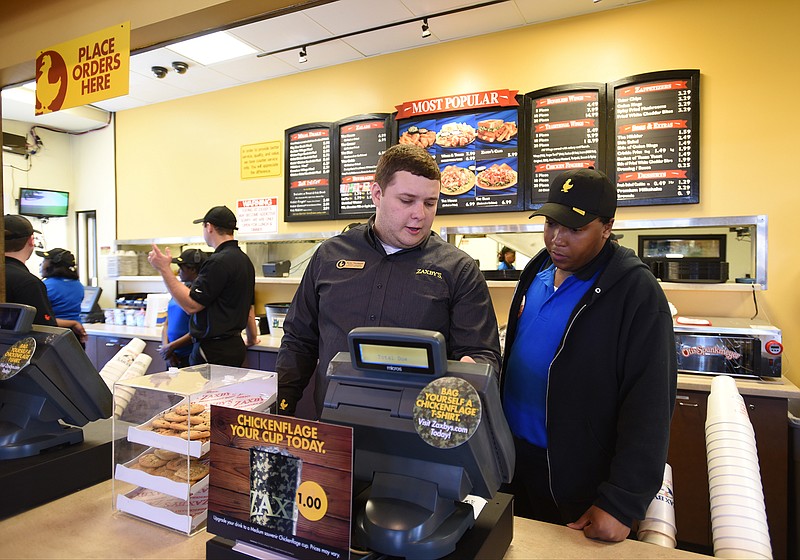
[[[784,372],[800,383],[787,359],[800,344],[797,21],[796,0],[652,0],[125,111],[117,115],[118,237],[197,235],[191,221],[210,206],[282,198],[282,178],[239,179],[239,147],[282,139],[297,124],[391,112],[403,101],[446,94],[525,93],[699,68],[700,204],[621,208],[617,218],[768,215],[769,289],[759,306],[783,328]],[[434,227],[527,219],[527,212],[475,214],[441,217]],[[344,225],[282,223],[280,231]],[[749,294],[670,298],[687,314],[753,312]]]

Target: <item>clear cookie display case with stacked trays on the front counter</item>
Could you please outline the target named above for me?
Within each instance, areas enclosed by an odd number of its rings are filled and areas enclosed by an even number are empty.
[[[273,372],[204,364],[114,385],[113,507],[191,535],[205,527],[211,405],[268,412]]]

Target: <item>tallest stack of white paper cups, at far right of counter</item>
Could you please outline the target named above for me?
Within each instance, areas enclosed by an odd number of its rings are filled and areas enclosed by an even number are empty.
[[[727,375],[711,382],[706,459],[714,556],[772,558],[755,432]]]

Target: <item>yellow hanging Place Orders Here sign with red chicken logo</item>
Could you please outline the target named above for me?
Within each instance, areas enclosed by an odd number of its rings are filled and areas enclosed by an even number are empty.
[[[36,114],[127,95],[130,45],[125,22],[39,51]]]

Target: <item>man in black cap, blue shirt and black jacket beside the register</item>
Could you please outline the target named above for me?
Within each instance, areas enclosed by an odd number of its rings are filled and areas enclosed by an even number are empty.
[[[624,540],[661,487],[677,384],[666,297],[610,239],[616,206],[603,173],[555,178],[533,214],[545,249],[514,293],[501,375],[515,514],[604,541]]]

